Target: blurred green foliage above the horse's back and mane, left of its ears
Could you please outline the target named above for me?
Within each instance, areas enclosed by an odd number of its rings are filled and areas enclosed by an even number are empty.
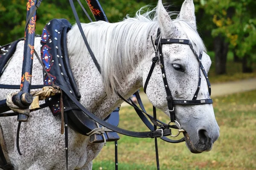
[[[151,0],[148,0],[151,2]],[[88,23],[86,15],[82,11],[79,4],[74,1],[77,13],[79,14],[82,23]],[[93,15],[87,6],[85,0],[81,1],[90,17]],[[144,2],[137,2],[136,0],[102,0],[102,8],[105,11],[110,22],[118,22],[126,14],[133,16],[142,6]],[[70,23],[75,23],[73,12],[70,8],[68,0],[43,0],[41,6],[37,11],[36,34],[41,34],[46,23],[53,18],[65,18]],[[26,24],[26,0],[4,0],[0,1],[0,44],[4,45],[20,37],[24,37],[24,28]]]

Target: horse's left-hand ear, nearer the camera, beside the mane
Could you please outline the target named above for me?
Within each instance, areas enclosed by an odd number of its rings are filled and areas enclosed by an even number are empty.
[[[172,22],[171,18],[169,17],[169,14],[166,11],[166,9],[163,7],[162,0],[158,0],[157,16],[162,34],[167,36],[172,35],[175,25]]]

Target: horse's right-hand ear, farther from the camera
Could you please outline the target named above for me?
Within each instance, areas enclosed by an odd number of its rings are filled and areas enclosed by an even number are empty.
[[[195,6],[193,0],[185,0],[180,9],[180,19],[185,20],[196,31]]]

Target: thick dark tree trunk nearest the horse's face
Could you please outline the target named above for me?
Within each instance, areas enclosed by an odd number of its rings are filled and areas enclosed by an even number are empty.
[[[215,51],[215,73],[217,75],[226,74],[228,43],[225,39],[218,35],[214,39]]]

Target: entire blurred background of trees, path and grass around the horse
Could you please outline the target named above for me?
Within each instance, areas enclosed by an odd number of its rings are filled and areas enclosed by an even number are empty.
[[[75,1],[74,1],[75,2]],[[99,0],[110,22],[134,16],[157,0]],[[85,0],[81,0],[91,15]],[[180,11],[183,0],[163,0],[168,11]],[[160,140],[160,168],[164,170],[255,170],[256,169],[256,2],[255,0],[194,0],[198,33],[212,59],[209,79],[220,137],[212,151],[192,154],[184,143]],[[88,23],[75,2],[81,22]],[[92,17],[92,15],[91,15]],[[0,1],[0,45],[24,36],[26,0]],[[68,0],[43,0],[37,13],[36,34],[53,18],[75,23]],[[151,104],[141,95],[146,110]],[[119,126],[147,130],[134,110],[122,105]],[[168,122],[163,113],[158,118]],[[175,133],[175,132],[174,132]],[[120,170],[155,170],[154,140],[120,135]],[[108,143],[94,160],[93,170],[114,169],[114,144]]]

